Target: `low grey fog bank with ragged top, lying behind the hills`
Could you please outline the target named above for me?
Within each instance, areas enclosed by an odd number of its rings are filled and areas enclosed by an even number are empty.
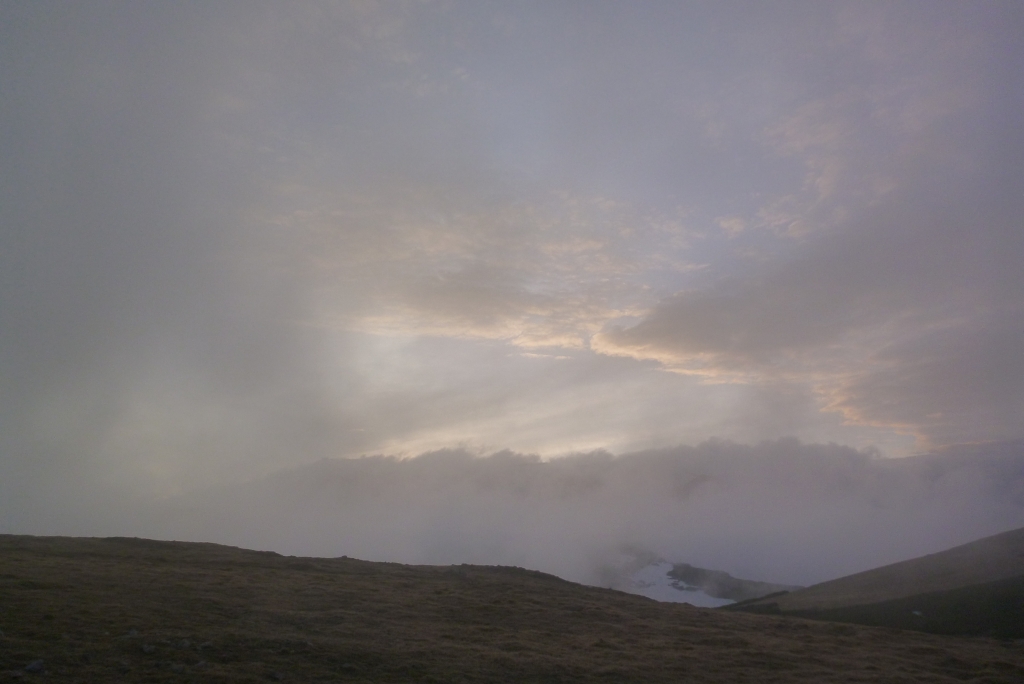
[[[515,564],[614,584],[632,554],[808,584],[1024,524],[1024,444],[888,460],[793,439],[543,461],[445,450],[328,460],[59,531],[300,555]],[[52,524],[52,523],[51,523]]]

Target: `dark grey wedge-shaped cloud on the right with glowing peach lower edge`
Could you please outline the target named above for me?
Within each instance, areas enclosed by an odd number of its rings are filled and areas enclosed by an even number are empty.
[[[895,193],[799,256],[668,297],[592,348],[710,380],[805,382],[847,420],[924,444],[1017,438],[1024,337],[1007,257],[1024,254],[1022,214],[981,187],[1004,173]]]

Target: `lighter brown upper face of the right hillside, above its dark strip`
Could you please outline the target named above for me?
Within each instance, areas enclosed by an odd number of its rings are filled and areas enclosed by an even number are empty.
[[[772,603],[781,612],[824,610],[944,592],[1024,575],[1024,527],[939,553],[823,582],[745,608]]]

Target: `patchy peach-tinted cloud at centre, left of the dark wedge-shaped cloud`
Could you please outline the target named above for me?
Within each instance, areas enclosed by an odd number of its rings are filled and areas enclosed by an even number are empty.
[[[304,246],[315,325],[580,349],[650,303],[648,279],[694,267],[680,217],[602,198],[481,203],[406,183],[330,195],[289,185],[271,203],[305,207],[264,218]]]

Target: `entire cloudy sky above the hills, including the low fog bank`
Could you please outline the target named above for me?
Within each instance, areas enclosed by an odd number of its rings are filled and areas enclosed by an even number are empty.
[[[0,532],[799,583],[1024,525],[1021,74],[1015,0],[0,0]]]

